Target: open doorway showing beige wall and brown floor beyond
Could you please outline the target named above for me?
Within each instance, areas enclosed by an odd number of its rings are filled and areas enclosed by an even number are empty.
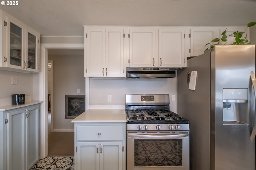
[[[72,119],[66,118],[64,114],[66,95],[85,94],[84,50],[50,49],[48,61],[53,63],[52,68],[50,70],[48,68],[48,96],[50,94],[52,99],[51,114],[48,113],[51,115],[51,130],[48,130],[48,156],[72,156],[74,155],[74,123],[71,123]]]

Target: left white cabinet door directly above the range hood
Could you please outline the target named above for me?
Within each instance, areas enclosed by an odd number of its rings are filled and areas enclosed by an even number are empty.
[[[130,67],[155,67],[156,37],[154,29],[130,30]]]

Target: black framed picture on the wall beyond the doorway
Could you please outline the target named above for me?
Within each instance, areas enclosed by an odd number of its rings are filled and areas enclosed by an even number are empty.
[[[74,119],[85,111],[85,95],[65,95],[65,119]]]

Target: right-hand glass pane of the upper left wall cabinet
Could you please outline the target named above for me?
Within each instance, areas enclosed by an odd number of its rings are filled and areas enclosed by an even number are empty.
[[[28,60],[26,67],[36,69],[36,36],[28,32]]]

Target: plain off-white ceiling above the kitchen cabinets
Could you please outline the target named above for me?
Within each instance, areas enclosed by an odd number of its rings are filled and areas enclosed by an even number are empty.
[[[84,25],[239,26],[256,21],[256,0],[18,0],[0,9],[41,36],[84,36]]]

